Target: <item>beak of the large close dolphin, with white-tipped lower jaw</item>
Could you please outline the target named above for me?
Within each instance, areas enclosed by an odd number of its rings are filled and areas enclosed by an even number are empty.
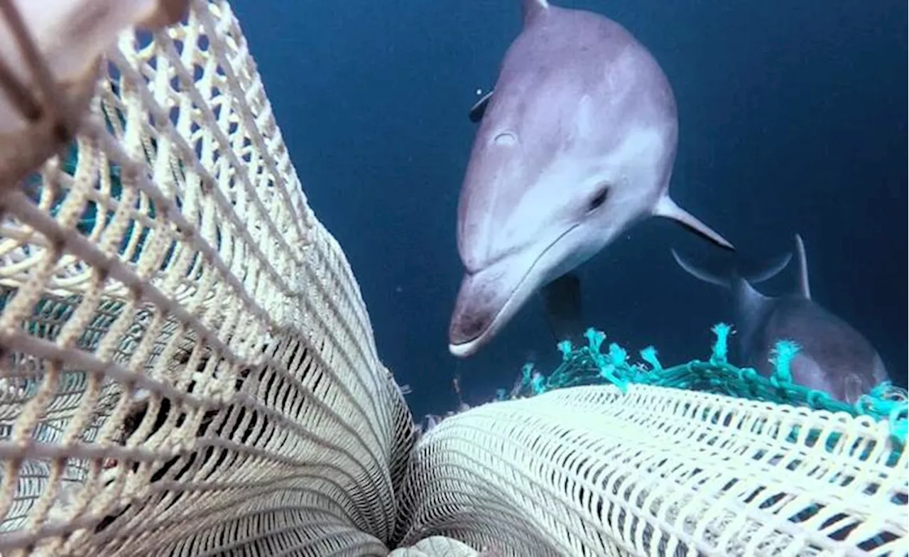
[[[522,272],[523,271],[523,272]],[[529,269],[510,261],[464,275],[448,328],[448,350],[458,358],[476,353],[533,293]]]

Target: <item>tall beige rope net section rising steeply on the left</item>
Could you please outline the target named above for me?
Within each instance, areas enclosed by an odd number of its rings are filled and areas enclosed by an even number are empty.
[[[412,420],[225,2],[0,198],[0,552],[385,555]]]

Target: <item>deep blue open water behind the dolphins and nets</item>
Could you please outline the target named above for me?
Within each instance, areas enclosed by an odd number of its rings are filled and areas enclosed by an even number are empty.
[[[745,257],[802,234],[814,299],[909,384],[909,3],[905,0],[562,0],[624,25],[674,88],[674,198]],[[463,268],[459,190],[475,125],[521,28],[518,0],[232,3],[318,218],[354,268],[385,365],[419,418],[560,360],[538,299],[457,360],[447,329]],[[710,354],[728,297],[669,252],[715,248],[664,219],[578,269],[584,312],[636,357]],[[794,265],[758,289],[796,288]],[[733,354],[732,361],[735,363]]]

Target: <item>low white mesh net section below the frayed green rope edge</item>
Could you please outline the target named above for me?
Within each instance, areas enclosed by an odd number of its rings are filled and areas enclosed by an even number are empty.
[[[443,420],[399,532],[514,556],[904,555],[907,501],[909,459],[871,417],[600,385]]]

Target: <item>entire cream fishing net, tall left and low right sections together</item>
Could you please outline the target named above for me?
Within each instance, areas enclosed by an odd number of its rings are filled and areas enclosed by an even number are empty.
[[[0,158],[0,554],[909,551],[906,458],[869,420],[590,388],[415,445],[230,6],[107,52],[87,115],[0,137],[51,155],[81,123],[34,175]],[[812,423],[838,449],[786,441]]]

